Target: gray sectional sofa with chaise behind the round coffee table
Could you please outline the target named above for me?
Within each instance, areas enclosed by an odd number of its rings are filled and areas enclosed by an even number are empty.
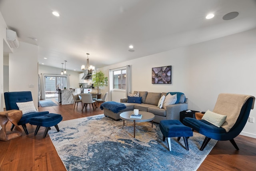
[[[134,94],[138,91],[134,91]],[[126,109],[120,110],[118,113],[114,113],[108,109],[104,108],[104,115],[106,117],[111,117],[115,120],[120,119],[120,113],[124,111],[133,111],[133,109],[139,109],[140,111],[148,111],[155,115],[154,122],[160,123],[161,120],[168,119],[180,119],[180,111],[188,109],[187,99],[184,94],[180,95],[180,100],[173,105],[168,105],[166,109],[160,109],[157,107],[159,99],[162,95],[167,95],[167,93],[152,93],[148,91],[139,91],[139,97],[141,98],[140,103],[127,103],[128,98],[120,99],[121,103],[126,105]]]

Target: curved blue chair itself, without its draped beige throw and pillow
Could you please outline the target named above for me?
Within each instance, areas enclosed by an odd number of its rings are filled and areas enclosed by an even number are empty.
[[[234,138],[238,136],[242,131],[242,129],[244,128],[248,120],[250,110],[253,109],[254,107],[254,101],[255,101],[255,97],[253,96],[248,97],[248,99],[244,101],[242,108],[240,110],[240,113],[238,115],[238,118],[235,120],[234,125],[231,127],[231,129],[228,132],[226,132],[224,128],[216,127],[215,125],[205,120],[197,120],[194,118],[185,117],[183,119],[183,123],[184,125],[191,127],[193,130],[198,131],[198,133],[201,133],[202,135],[206,136],[200,148],[201,151],[204,150],[204,148],[206,147],[210,139],[216,139],[218,141],[229,140],[232,143],[232,145],[237,150],[239,150],[238,146],[236,145],[236,142],[234,141]],[[222,105],[225,108],[227,107],[228,104],[230,104],[230,100],[227,100],[226,103]],[[219,114],[222,114],[222,113],[219,113]],[[228,117],[229,116],[227,115],[227,118]]]

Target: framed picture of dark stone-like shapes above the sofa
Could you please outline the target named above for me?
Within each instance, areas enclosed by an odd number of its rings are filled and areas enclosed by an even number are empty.
[[[152,84],[171,84],[172,66],[152,68]]]

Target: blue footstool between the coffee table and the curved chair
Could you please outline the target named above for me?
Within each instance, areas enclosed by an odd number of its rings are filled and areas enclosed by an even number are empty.
[[[163,141],[167,137],[170,151],[172,151],[170,137],[178,137],[178,141],[180,141],[180,137],[183,137],[186,150],[188,150],[188,137],[193,136],[193,131],[190,127],[183,125],[179,120],[162,120],[159,123],[159,127],[163,134]]]

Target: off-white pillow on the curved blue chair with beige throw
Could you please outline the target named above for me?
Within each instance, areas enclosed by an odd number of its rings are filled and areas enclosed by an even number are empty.
[[[227,115],[220,115],[218,113],[214,113],[210,110],[204,113],[202,120],[208,121],[215,125],[216,127],[220,127],[226,121]]]

